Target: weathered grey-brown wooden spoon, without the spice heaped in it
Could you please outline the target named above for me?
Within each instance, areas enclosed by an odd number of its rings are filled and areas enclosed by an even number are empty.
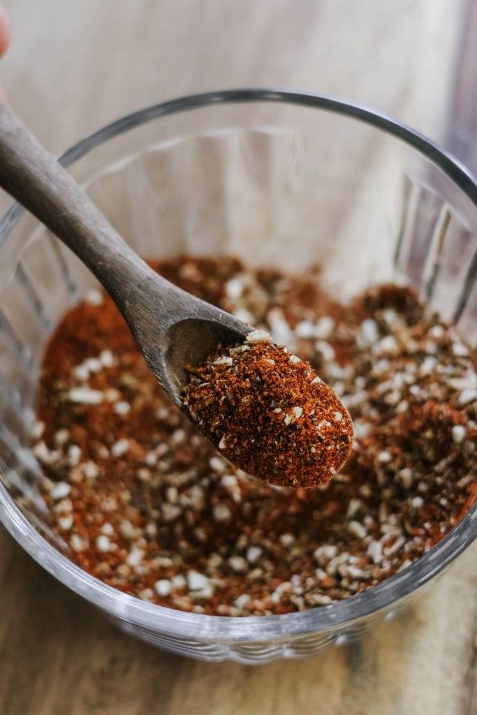
[[[157,275],[127,245],[72,176],[0,103],[0,186],[97,277],[122,312],[149,368],[181,405],[184,365],[252,328]]]

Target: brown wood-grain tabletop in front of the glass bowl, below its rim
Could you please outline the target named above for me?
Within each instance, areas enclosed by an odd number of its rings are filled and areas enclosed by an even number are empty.
[[[405,616],[358,644],[251,668],[123,636],[1,533],[3,715],[471,713],[477,548]]]

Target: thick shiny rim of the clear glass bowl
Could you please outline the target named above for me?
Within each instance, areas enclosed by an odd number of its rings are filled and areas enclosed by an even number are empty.
[[[424,154],[440,167],[453,182],[477,206],[477,182],[473,174],[448,152],[406,124],[387,114],[370,109],[363,104],[330,94],[299,92],[290,89],[256,88],[227,89],[217,92],[191,94],[186,97],[153,104],[127,114],[116,121],[89,134],[74,144],[59,162],[69,167],[85,154],[104,142],[128,132],[135,127],[169,114],[201,109],[212,104],[245,102],[284,102],[301,107],[324,109],[342,114],[360,122],[365,122],[385,133],[402,139],[418,152]],[[0,220],[0,249],[19,221],[23,207],[15,202]],[[477,257],[476,257],[477,258]],[[469,268],[472,270],[473,266]],[[0,520],[19,544],[59,581],[78,593],[95,606],[110,615],[127,621],[133,626],[148,628],[154,632],[172,633],[187,641],[196,638],[215,643],[235,641],[286,641],[290,636],[305,636],[322,631],[339,633],[343,626],[359,618],[370,616],[376,611],[395,604],[427,583],[433,576],[443,571],[477,536],[477,504],[466,513],[461,521],[435,547],[414,561],[403,571],[385,579],[377,586],[358,595],[338,601],[329,606],[310,608],[297,613],[280,616],[207,616],[187,613],[174,608],[157,606],[142,601],[135,596],[122,593],[112,586],[99,581],[51,546],[36,531],[34,526],[16,507],[4,485],[0,485]]]

